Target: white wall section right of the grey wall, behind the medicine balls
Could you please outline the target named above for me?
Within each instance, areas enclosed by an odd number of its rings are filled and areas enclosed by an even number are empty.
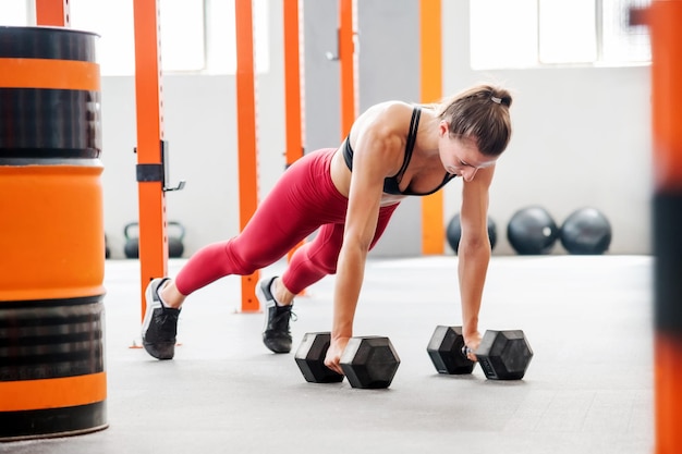
[[[509,219],[539,204],[558,223],[594,206],[613,226],[611,254],[648,254],[649,66],[474,72],[467,64],[468,2],[442,3],[443,91],[491,79],[514,95],[514,133],[491,189],[490,216],[502,228],[495,253],[513,254]],[[448,219],[459,194],[459,186],[447,188]],[[555,253],[565,251],[557,244]]]

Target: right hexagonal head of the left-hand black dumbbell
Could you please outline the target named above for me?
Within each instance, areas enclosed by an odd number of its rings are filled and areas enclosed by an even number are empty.
[[[341,355],[341,369],[353,388],[388,388],[400,358],[388,338],[351,338]]]

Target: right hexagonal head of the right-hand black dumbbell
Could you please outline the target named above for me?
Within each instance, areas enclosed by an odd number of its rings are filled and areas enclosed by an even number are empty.
[[[476,357],[491,380],[521,380],[533,358],[533,349],[523,331],[486,331]]]

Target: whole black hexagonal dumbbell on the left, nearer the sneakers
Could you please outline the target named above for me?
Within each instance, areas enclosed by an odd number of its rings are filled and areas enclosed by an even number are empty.
[[[306,333],[303,336],[294,359],[306,381],[338,383],[343,380],[342,375],[325,366],[330,342],[329,332]],[[382,389],[390,386],[400,358],[388,338],[358,336],[349,341],[340,365],[351,386]]]

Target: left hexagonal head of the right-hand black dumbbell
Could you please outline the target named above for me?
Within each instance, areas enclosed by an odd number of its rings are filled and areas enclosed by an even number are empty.
[[[472,373],[476,364],[464,356],[462,347],[462,327],[438,326],[426,351],[439,373]]]

